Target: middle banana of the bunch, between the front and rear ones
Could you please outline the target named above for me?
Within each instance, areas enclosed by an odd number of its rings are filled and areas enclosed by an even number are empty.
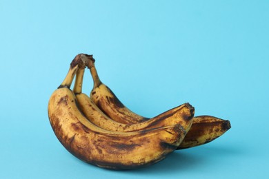
[[[141,129],[152,129],[157,127],[165,127],[169,125],[180,124],[186,132],[192,125],[192,118],[195,109],[190,104],[185,103],[179,107],[170,109],[163,114],[159,114],[155,118],[151,118],[143,123],[123,124],[112,120],[95,105],[90,97],[81,93],[84,69],[79,69],[76,75],[73,92],[76,95],[79,109],[94,125],[109,131],[139,131]],[[98,117],[97,117],[98,116]]]

